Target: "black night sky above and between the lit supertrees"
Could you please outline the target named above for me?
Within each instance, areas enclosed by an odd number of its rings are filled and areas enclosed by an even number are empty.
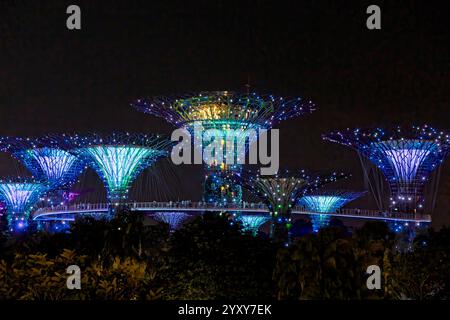
[[[80,31],[66,28],[70,4],[81,7]],[[381,7],[381,30],[366,28],[370,4]],[[347,186],[362,188],[357,155],[320,135],[397,124],[450,130],[448,21],[448,10],[430,1],[3,0],[0,134],[170,133],[129,103],[244,91],[249,82],[317,105],[279,126],[282,167],[349,171]],[[3,154],[0,174],[14,173],[13,162]],[[436,226],[450,224],[449,162]],[[201,168],[178,172],[181,197],[198,199]]]

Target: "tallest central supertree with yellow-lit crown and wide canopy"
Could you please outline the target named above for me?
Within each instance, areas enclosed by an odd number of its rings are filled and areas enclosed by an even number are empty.
[[[229,91],[139,99],[132,106],[164,118],[194,136],[197,152],[206,162],[204,201],[218,205],[241,202],[242,189],[232,183],[231,176],[241,170],[247,151],[257,140],[258,130],[270,129],[282,120],[314,110],[311,101],[301,98]],[[214,149],[214,155],[226,150],[221,161],[208,159],[204,154],[203,142],[211,141],[207,135],[210,129],[221,137],[222,146]],[[235,146],[237,152],[234,152]]]

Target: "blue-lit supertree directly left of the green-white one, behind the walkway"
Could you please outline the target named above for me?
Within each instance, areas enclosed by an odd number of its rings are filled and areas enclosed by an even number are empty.
[[[48,185],[50,202],[65,202],[63,194],[69,192],[85,168],[80,158],[61,149],[56,140],[5,137],[1,144],[34,178]]]

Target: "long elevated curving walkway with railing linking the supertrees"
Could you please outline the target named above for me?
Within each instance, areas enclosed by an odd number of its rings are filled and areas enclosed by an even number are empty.
[[[117,204],[118,205],[118,204]],[[217,206],[206,202],[132,202],[122,204],[133,211],[239,211],[248,213],[268,213],[268,208],[263,203],[243,202],[239,205],[227,205],[226,207]],[[113,204],[114,206],[114,204]],[[60,214],[81,214],[81,213],[102,213],[110,208],[108,203],[85,203],[74,204],[70,206],[55,206],[49,208],[40,208],[33,213],[33,219],[44,216],[53,216]],[[323,214],[306,210],[304,207],[294,207],[293,214],[311,215]],[[333,213],[326,213],[331,216],[340,216],[348,218],[377,219],[377,220],[399,220],[413,222],[431,222],[430,215],[410,214],[400,212],[384,212],[379,210],[366,209],[340,209]]]

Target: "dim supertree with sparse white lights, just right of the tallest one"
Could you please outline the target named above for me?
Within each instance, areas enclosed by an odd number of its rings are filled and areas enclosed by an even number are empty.
[[[235,179],[266,203],[272,217],[272,239],[275,242],[287,244],[292,208],[299,198],[328,183],[346,179],[349,176],[336,172],[326,175],[312,174],[305,170],[285,171],[275,176],[261,176],[247,171],[236,174]]]

